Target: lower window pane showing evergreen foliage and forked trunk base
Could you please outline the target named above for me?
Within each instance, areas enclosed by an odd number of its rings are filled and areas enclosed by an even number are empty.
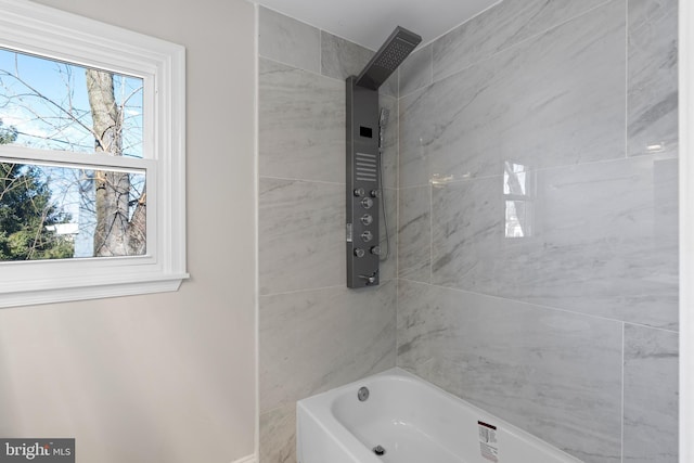
[[[144,172],[0,163],[0,260],[140,256]]]

